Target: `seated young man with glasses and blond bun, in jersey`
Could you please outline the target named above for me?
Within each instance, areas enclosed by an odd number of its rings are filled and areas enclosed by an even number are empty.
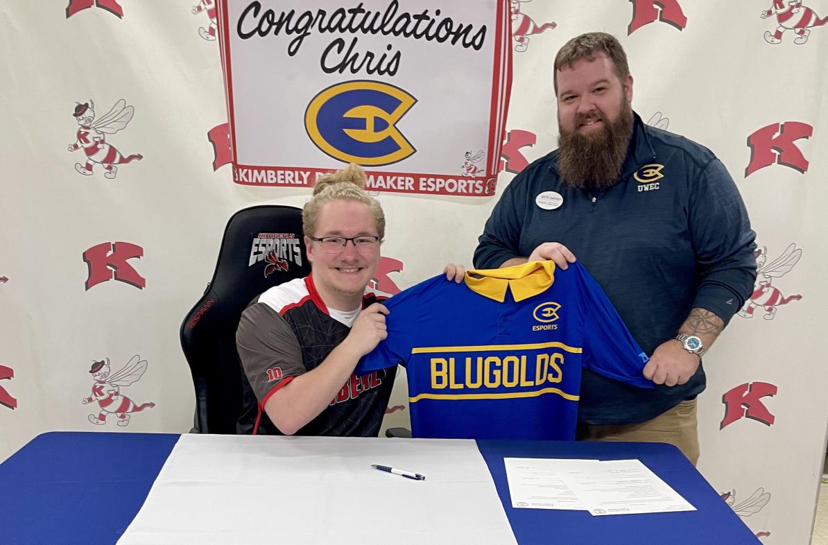
[[[354,367],[386,337],[388,309],[367,289],[385,217],[349,165],[316,182],[302,210],[309,277],[272,287],[243,312],[236,334],[244,370],[238,432],[377,436],[396,368]],[[462,267],[446,277],[460,282]]]

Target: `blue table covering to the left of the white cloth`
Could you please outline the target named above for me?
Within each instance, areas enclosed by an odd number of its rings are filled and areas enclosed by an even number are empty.
[[[117,542],[178,438],[115,432],[35,437],[0,465],[0,543]]]

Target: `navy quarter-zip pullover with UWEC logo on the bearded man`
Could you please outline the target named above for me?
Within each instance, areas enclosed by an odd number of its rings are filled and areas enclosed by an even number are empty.
[[[546,210],[536,198],[562,197]],[[546,208],[549,208],[547,205]],[[706,147],[645,125],[635,114],[621,176],[604,191],[561,183],[557,151],[515,176],[474,252],[498,268],[545,242],[575,254],[647,355],[672,339],[693,307],[726,324],[753,292],[755,234],[733,179]],[[699,366],[685,384],[636,388],[584,371],[579,422],[644,422],[705,388]]]

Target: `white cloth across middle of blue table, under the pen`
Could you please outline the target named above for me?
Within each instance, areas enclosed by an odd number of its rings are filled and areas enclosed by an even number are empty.
[[[474,441],[189,434],[118,543],[516,542]]]

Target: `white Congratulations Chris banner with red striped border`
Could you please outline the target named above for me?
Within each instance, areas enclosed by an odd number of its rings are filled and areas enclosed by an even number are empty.
[[[511,84],[506,0],[221,0],[233,180],[494,195]]]

